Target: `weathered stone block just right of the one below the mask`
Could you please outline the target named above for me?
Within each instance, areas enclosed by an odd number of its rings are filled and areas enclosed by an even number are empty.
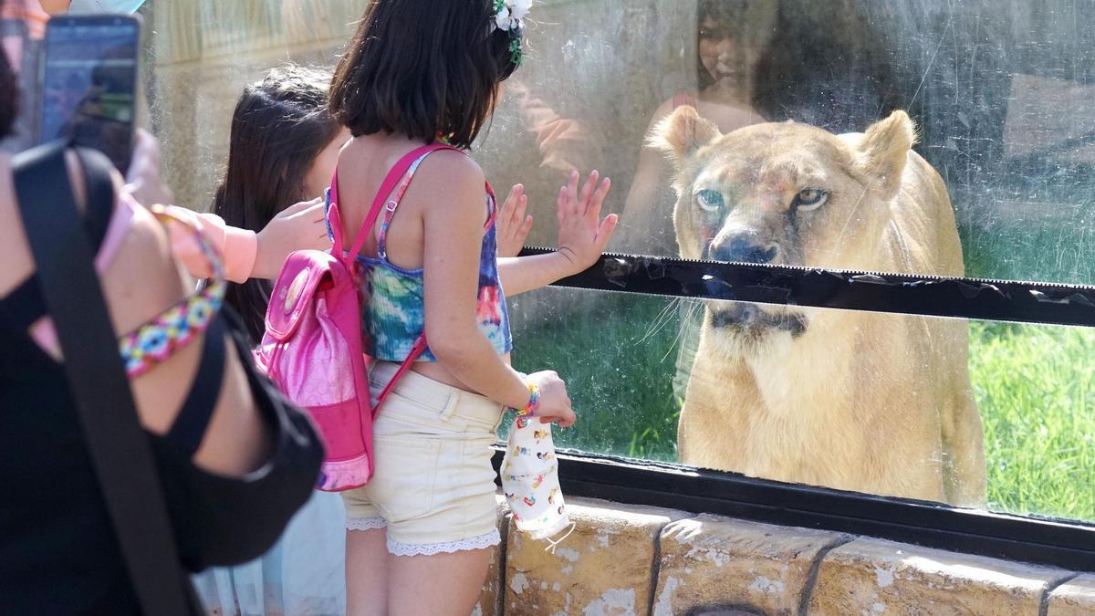
[[[705,606],[797,614],[815,558],[840,540],[837,533],[706,514],[672,522],[661,532],[654,615]]]

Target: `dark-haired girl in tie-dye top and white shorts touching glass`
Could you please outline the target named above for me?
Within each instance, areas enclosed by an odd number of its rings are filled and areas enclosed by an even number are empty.
[[[557,374],[510,367],[505,298],[596,262],[616,226],[600,216],[609,181],[595,171],[579,190],[575,172],[560,190],[558,252],[497,259],[494,194],[461,151],[520,65],[529,3],[370,2],[332,83],[332,116],[354,137],[330,221],[360,247],[348,256],[372,397],[412,360],[376,414],[371,479],[342,492],[349,614],[471,613],[499,541],[491,446],[503,411],[575,421]]]

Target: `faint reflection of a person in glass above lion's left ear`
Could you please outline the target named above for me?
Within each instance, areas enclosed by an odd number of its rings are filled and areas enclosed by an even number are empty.
[[[696,23],[696,90],[678,92],[654,113],[654,127],[675,109],[690,105],[723,133],[764,122],[751,106],[756,65],[776,19],[775,2],[701,0]],[[629,252],[675,254],[672,173],[660,153],[643,148],[627,194],[620,246]]]

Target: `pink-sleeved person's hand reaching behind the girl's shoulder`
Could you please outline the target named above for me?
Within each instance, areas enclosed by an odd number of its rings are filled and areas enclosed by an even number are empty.
[[[258,231],[258,250],[251,277],[274,280],[290,253],[330,249],[323,214],[323,197],[302,201],[278,213]]]

